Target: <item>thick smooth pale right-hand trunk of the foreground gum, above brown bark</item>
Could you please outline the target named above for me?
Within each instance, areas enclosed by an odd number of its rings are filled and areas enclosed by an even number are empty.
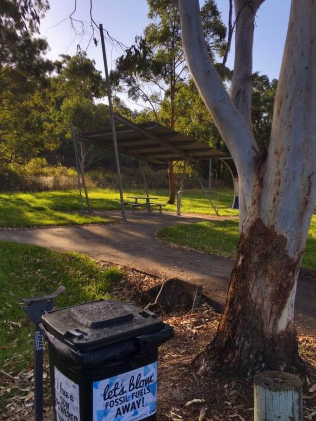
[[[316,3],[293,0],[277,88],[260,208],[287,239],[305,247],[316,197]]]

